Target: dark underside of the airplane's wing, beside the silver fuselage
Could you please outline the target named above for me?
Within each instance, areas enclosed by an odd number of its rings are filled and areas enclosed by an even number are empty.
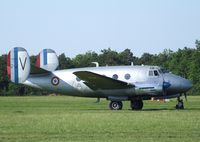
[[[115,80],[89,71],[77,71],[73,74],[83,80],[83,83],[93,90],[128,89],[135,87],[133,84]]]

